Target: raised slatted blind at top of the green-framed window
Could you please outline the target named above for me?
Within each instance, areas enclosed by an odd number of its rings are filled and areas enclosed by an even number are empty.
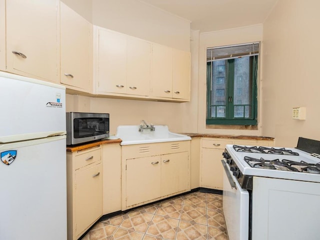
[[[245,44],[217,46],[206,48],[206,61],[231,59],[241,56],[253,56],[259,54],[259,43],[251,42]]]

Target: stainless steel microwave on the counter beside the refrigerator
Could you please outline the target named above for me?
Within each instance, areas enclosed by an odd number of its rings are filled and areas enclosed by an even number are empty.
[[[109,137],[109,113],[66,112],[66,144]]]

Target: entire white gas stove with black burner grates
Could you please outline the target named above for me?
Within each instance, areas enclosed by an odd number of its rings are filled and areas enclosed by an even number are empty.
[[[319,239],[320,156],[309,153],[308,144],[317,150],[320,141],[299,142],[300,149],[226,145],[223,211],[229,240]]]

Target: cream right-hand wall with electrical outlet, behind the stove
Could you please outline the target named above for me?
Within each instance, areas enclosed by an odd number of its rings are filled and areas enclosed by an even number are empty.
[[[262,134],[278,146],[320,140],[320,1],[279,0],[263,23]],[[306,120],[292,107],[305,106]]]

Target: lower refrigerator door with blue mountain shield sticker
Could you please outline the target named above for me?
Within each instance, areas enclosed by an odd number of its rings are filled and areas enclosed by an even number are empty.
[[[66,239],[65,135],[0,144],[0,239]]]

